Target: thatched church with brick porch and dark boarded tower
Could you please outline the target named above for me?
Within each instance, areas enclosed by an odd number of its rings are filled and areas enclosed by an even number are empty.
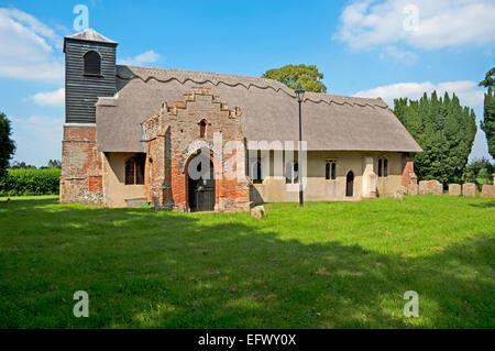
[[[177,211],[391,196],[421,149],[382,99],[279,81],[117,65],[118,43],[66,36],[61,202]],[[300,163],[300,164],[299,164]]]

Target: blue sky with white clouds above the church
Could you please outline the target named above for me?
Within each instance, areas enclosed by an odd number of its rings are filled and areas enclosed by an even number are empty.
[[[90,28],[119,42],[120,63],[248,76],[315,64],[330,94],[392,103],[455,91],[479,120],[477,81],[495,66],[492,0],[0,1],[0,111],[12,120],[16,161],[61,158],[62,43],[79,3]],[[471,157],[481,156],[482,131]]]

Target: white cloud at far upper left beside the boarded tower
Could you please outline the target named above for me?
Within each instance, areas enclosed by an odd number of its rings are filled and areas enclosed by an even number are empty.
[[[33,15],[0,8],[0,77],[62,81],[62,37]]]

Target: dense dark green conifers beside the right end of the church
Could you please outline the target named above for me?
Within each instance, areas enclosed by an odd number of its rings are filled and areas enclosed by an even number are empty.
[[[462,107],[455,94],[438,98],[433,91],[419,100],[394,100],[394,113],[415,138],[424,152],[415,155],[415,171],[419,179],[441,176],[439,116],[443,116],[443,176],[446,183],[460,182],[476,134],[476,116]]]

